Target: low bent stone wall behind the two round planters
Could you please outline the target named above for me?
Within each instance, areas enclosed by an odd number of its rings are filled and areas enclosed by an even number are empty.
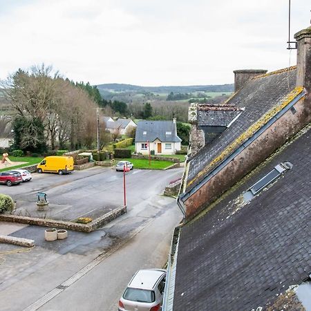
[[[96,218],[93,221],[91,221],[91,223],[87,224],[72,223],[70,221],[53,220],[46,218],[42,219],[35,217],[8,215],[8,214],[0,214],[0,220],[10,221],[12,223],[24,223],[27,225],[38,225],[43,227],[70,229],[81,232],[92,232],[98,227],[101,227],[102,225],[111,222],[113,219],[117,218],[118,216],[121,216],[124,213],[126,213],[126,207],[119,207],[117,209],[113,209],[113,211],[109,211],[109,213],[104,214],[103,216],[100,216],[99,218]]]

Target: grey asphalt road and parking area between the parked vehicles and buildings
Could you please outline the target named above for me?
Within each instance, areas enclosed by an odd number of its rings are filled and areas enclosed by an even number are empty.
[[[162,267],[167,261],[173,227],[182,215],[175,200],[162,196],[162,191],[181,175],[182,169],[129,172],[128,212],[97,232],[69,232],[66,241],[55,243],[44,241],[42,227],[12,232],[12,236],[34,239],[37,246],[30,253],[4,256],[0,310],[116,310],[136,270]],[[0,191],[17,202],[33,202],[37,191],[44,191],[59,207],[70,206],[79,214],[85,213],[85,205],[90,211],[122,205],[122,178],[121,172],[110,168],[68,176],[34,174],[31,182],[3,186]]]

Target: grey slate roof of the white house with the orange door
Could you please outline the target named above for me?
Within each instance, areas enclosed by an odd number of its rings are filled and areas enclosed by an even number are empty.
[[[144,135],[144,131],[147,135]],[[171,135],[166,135],[171,131]],[[181,142],[176,133],[176,124],[173,121],[139,121],[136,128],[135,142],[153,142],[156,139],[161,142]]]

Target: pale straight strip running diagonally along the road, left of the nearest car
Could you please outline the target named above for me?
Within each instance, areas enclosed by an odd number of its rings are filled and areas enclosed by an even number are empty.
[[[109,252],[103,253],[100,256],[98,256],[97,258],[95,258],[93,261],[91,261],[91,263],[88,263],[88,265],[86,265],[85,267],[83,267],[81,270],[79,270],[78,272],[76,272],[75,274],[73,274],[73,276],[71,276],[69,279],[67,279],[66,281],[64,281],[62,284],[58,285],[57,288],[54,288],[53,290],[51,290],[50,292],[46,293],[44,296],[42,296],[40,299],[38,299],[37,301],[35,301],[34,303],[32,303],[31,305],[28,306],[28,308],[23,309],[23,311],[35,311],[38,310],[39,308],[41,308],[43,305],[45,305],[46,303],[48,303],[48,301],[52,300],[53,298],[55,298],[58,294],[60,294],[61,292],[63,292],[64,290],[66,290],[66,288],[68,288],[70,285],[73,285],[73,283],[75,283],[76,281],[78,281],[79,279],[82,278],[82,276],[84,276],[86,273],[90,272],[94,267],[96,267],[99,263],[101,263],[102,261],[104,261],[106,258],[108,258],[109,256],[111,256],[111,254],[113,254],[114,252],[117,251],[117,249],[119,249],[120,247],[122,247],[123,245],[125,245],[127,242],[129,242],[129,240],[131,240],[131,238],[133,238],[136,234],[139,234],[142,229],[144,229],[144,227],[147,227],[147,225],[149,225],[150,223],[152,223],[155,220],[155,218],[151,218],[149,220],[147,220],[146,223],[142,224],[140,227],[136,228],[135,230],[133,230],[133,232],[129,235],[129,238],[124,239],[124,241],[122,241],[122,243],[116,245],[113,249],[111,249]]]

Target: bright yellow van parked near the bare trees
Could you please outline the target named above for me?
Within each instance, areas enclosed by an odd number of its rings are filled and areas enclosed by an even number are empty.
[[[59,173],[59,175],[73,171],[73,157],[50,156],[44,158],[37,165],[38,173]]]

